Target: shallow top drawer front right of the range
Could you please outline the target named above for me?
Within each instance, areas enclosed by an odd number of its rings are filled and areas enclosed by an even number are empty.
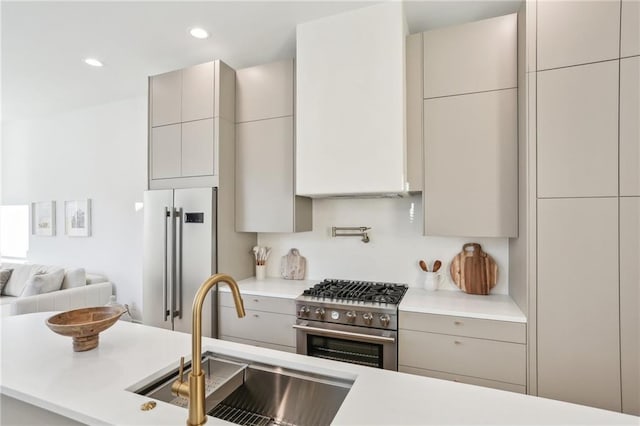
[[[405,330],[452,334],[455,336],[477,337],[480,339],[502,340],[516,343],[526,343],[527,341],[526,324],[519,322],[402,311],[400,312],[399,321],[399,328]]]

